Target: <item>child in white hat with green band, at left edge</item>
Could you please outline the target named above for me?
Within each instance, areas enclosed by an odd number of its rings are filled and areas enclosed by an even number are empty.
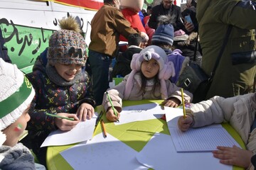
[[[30,150],[18,143],[30,119],[35,91],[16,65],[0,59],[0,169],[46,169],[34,163]]]

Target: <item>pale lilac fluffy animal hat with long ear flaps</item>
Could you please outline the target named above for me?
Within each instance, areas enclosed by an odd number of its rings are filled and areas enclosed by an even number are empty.
[[[161,47],[156,45],[150,45],[144,48],[141,52],[134,54],[132,56],[131,69],[132,72],[129,74],[127,79],[127,84],[124,89],[124,99],[129,98],[129,94],[132,91],[132,86],[134,84],[134,74],[139,72],[141,69],[143,60],[151,60],[154,59],[159,63],[159,74],[158,78],[161,84],[161,98],[166,99],[167,96],[167,88],[166,88],[166,80],[170,77],[175,76],[174,63],[167,62],[166,60],[166,52],[164,52]]]

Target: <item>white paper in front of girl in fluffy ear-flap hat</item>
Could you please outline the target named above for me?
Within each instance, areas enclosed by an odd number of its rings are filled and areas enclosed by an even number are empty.
[[[168,110],[167,107],[162,108],[158,103],[124,107],[120,113],[119,122],[114,122],[114,125],[161,118]]]

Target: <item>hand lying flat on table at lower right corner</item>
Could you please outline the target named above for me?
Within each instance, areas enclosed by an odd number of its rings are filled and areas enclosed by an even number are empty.
[[[221,164],[241,166],[243,168],[250,166],[251,151],[240,149],[235,145],[233,147],[217,147],[217,149],[213,151],[213,157],[220,159]]]

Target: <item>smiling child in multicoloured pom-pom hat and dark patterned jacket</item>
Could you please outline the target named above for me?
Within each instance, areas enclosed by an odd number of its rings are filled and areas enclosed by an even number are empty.
[[[45,69],[34,69],[28,74],[36,96],[32,101],[28,122],[28,137],[33,152],[41,164],[46,164],[46,149],[41,144],[53,130],[72,130],[80,121],[92,118],[95,100],[92,83],[85,66],[85,40],[80,35],[75,18],[59,21],[61,30],[49,38],[48,63]],[[43,67],[40,64],[36,67]],[[46,113],[75,120],[54,118]]]

